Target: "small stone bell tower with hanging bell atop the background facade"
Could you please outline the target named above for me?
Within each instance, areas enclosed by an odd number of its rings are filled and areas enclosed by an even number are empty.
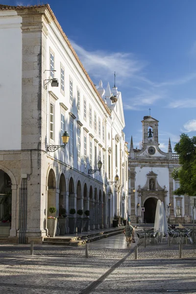
[[[142,147],[149,145],[159,146],[158,142],[158,123],[159,121],[153,119],[151,116],[145,116],[142,121],[143,140]]]

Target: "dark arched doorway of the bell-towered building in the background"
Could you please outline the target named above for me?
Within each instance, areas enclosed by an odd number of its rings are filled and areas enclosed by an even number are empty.
[[[144,203],[144,221],[147,223],[154,223],[157,201],[157,198],[150,197]]]

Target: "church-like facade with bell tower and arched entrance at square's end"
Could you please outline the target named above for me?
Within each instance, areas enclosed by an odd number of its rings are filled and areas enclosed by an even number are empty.
[[[169,139],[168,152],[159,148],[158,121],[145,116],[142,121],[143,140],[141,149],[134,149],[131,137],[129,150],[129,205],[133,222],[153,223],[157,200],[163,201],[171,223],[190,222],[188,196],[176,196],[178,181],[172,171],[179,167],[177,154],[172,153]],[[128,212],[129,213],[129,212]]]

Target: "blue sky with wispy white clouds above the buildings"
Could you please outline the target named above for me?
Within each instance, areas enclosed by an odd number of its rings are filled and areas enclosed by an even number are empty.
[[[112,87],[116,71],[128,143],[133,135],[139,147],[149,107],[159,121],[163,151],[169,137],[173,147],[180,133],[196,135],[196,0],[55,0],[49,5],[95,84],[102,79],[104,88],[108,81]]]

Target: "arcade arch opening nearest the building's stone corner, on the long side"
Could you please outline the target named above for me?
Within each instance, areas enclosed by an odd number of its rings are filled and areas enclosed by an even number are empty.
[[[48,179],[47,179],[47,187],[48,187],[48,199],[47,199],[47,215],[49,216],[49,208],[51,206],[56,207],[56,176],[53,169],[49,170]]]

